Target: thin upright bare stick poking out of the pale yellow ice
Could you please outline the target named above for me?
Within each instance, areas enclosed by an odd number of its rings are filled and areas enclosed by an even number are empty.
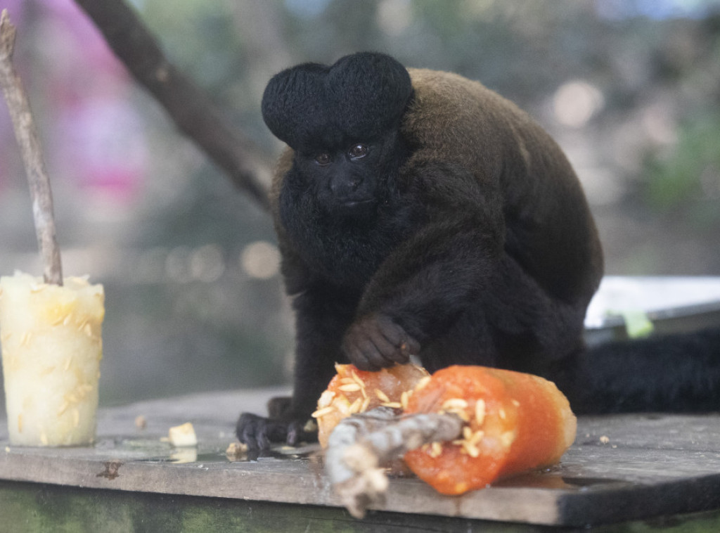
[[[0,15],[0,86],[7,102],[15,137],[20,145],[27,181],[30,184],[32,215],[35,218],[35,233],[37,233],[37,244],[40,246],[45,282],[63,285],[60,248],[55,238],[50,178],[42,161],[40,139],[35,122],[32,120],[30,102],[12,64],[14,46],[15,27],[10,22],[7,9],[3,9]]]

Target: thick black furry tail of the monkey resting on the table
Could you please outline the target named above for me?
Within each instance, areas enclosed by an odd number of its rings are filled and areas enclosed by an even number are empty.
[[[720,327],[602,344],[554,374],[578,414],[720,411]]]

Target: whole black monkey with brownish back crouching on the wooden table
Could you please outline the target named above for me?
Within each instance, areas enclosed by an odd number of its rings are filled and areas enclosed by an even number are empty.
[[[289,145],[271,205],[297,352],[292,402],[240,416],[240,441],[294,444],[335,362],[372,370],[410,354],[431,372],[549,377],[580,412],[720,408],[718,331],[664,341],[680,349],[660,359],[655,345],[585,350],[603,274],[595,224],[558,145],[508,100],[357,53],[277,74],[262,111]]]

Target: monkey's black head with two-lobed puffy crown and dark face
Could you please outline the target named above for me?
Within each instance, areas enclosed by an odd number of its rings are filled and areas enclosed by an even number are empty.
[[[382,200],[387,173],[402,152],[400,122],[413,87],[388,55],[356,53],[332,66],[305,63],[274,76],[263,119],[294,150],[287,184],[312,194],[320,209],[370,212]]]

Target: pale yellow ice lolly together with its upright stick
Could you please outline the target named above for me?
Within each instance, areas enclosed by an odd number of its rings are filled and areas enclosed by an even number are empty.
[[[0,278],[0,346],[11,444],[73,446],[95,439],[102,285],[66,277],[55,238],[53,195],[22,81],[12,64],[15,27],[0,12],[0,87],[32,197],[43,277]],[[63,286],[64,285],[64,286]]]

